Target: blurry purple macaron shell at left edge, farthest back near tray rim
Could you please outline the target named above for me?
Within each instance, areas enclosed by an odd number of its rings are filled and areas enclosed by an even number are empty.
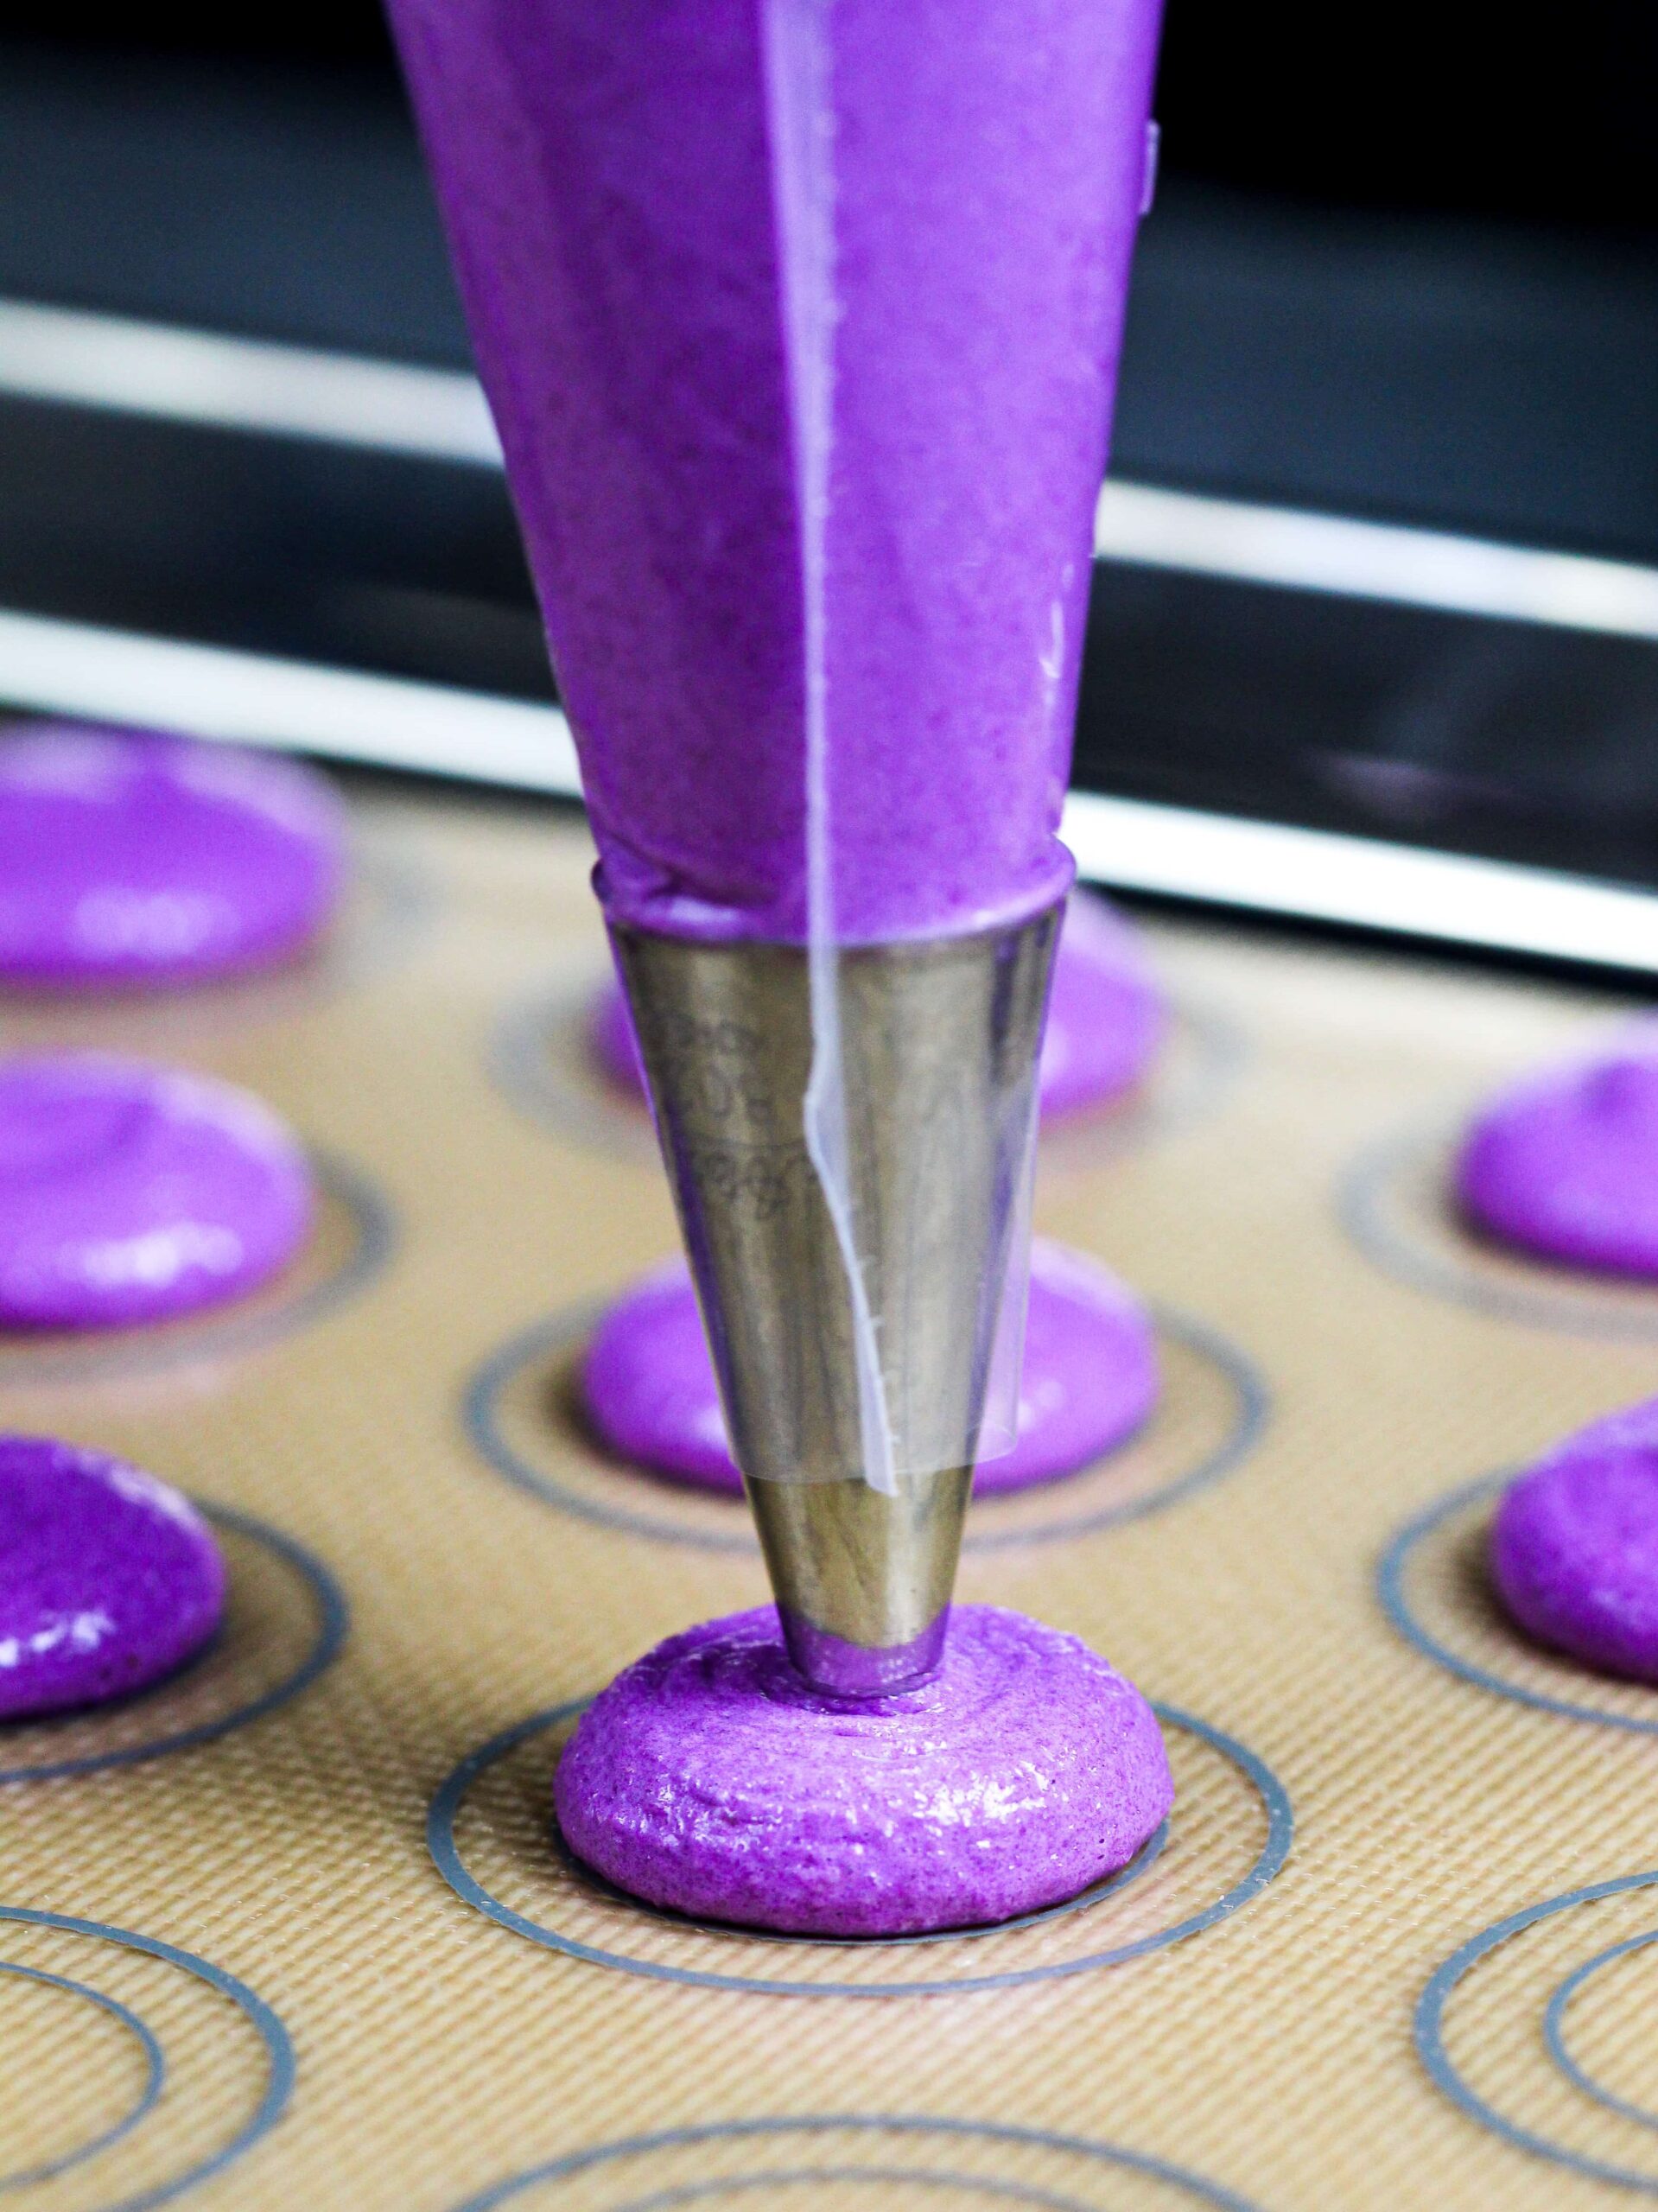
[[[345,812],[298,761],[20,726],[0,741],[0,982],[183,984],[309,945],[345,878]]]

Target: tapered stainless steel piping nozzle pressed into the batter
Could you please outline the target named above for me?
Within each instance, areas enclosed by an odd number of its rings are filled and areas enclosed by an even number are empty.
[[[836,1694],[906,1688],[944,1650],[1057,931],[1054,907],[838,960],[895,1495],[864,1480],[853,1301],[805,1141],[805,949],[612,931],[789,1655]]]

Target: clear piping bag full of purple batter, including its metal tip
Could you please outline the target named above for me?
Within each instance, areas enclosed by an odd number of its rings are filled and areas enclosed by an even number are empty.
[[[1012,1447],[1158,0],[391,0],[789,1652]]]

